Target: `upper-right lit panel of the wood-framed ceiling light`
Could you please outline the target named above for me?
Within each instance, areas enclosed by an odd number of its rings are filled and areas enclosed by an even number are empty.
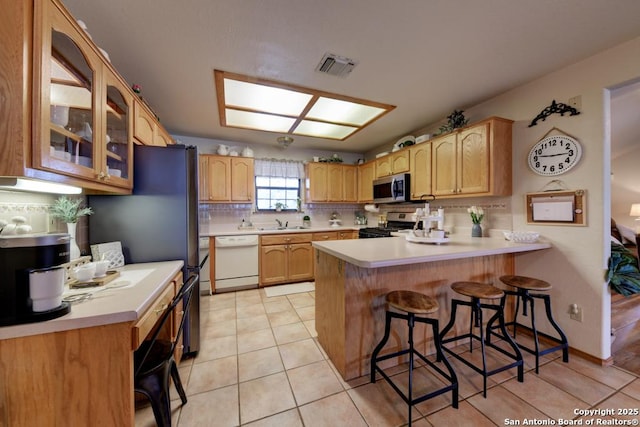
[[[311,110],[309,110],[306,117],[326,122],[362,126],[384,112],[385,110],[383,108],[321,97],[313,105]]]

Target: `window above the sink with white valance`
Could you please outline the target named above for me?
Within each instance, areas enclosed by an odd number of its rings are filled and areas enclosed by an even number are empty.
[[[300,180],[274,176],[256,176],[256,207],[259,211],[297,210]],[[281,204],[281,205],[278,205]]]

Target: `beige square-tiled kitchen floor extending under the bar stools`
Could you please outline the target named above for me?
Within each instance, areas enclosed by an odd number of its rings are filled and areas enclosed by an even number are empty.
[[[313,292],[268,298],[263,290],[249,290],[201,298],[201,350],[179,367],[189,399],[185,406],[172,386],[174,425],[406,425],[407,407],[384,380],[345,382],[327,359],[314,329]],[[500,355],[491,358],[496,362]],[[533,356],[525,353],[524,382],[516,380],[515,369],[496,374],[488,380],[485,399],[482,377],[449,360],[460,382],[459,408],[451,407],[450,393],[429,399],[414,408],[413,425],[562,425],[560,420],[587,425],[587,419],[600,420],[593,425],[621,425],[611,419],[640,419],[617,414],[640,408],[640,378],[616,367],[575,355],[563,363],[555,352],[543,357],[536,375]],[[394,369],[394,379],[406,386],[403,369]],[[426,370],[416,371],[418,392],[435,384]],[[582,415],[589,409],[611,409],[614,415]],[[152,425],[150,407],[139,409],[136,426]]]

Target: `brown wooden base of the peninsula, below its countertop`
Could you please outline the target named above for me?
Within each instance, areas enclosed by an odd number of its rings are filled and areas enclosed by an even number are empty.
[[[412,290],[430,296],[440,310],[434,313],[440,324],[451,314],[457,281],[499,283],[502,275],[513,274],[511,253],[445,261],[421,262],[379,268],[364,268],[327,252],[316,251],[316,331],[318,341],[345,380],[370,374],[371,354],[384,335],[385,295],[393,290]],[[505,316],[513,313],[507,304]],[[469,313],[459,313],[453,336],[468,332]],[[433,339],[426,325],[416,325],[414,345],[422,354],[433,354]],[[394,353],[407,345],[404,325],[393,325],[383,354]],[[381,363],[383,368],[406,362],[406,356]]]

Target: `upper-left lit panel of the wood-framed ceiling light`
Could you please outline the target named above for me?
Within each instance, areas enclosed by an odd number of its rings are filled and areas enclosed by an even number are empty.
[[[312,98],[308,93],[230,79],[224,80],[224,95],[227,107],[286,116],[300,115]]]

